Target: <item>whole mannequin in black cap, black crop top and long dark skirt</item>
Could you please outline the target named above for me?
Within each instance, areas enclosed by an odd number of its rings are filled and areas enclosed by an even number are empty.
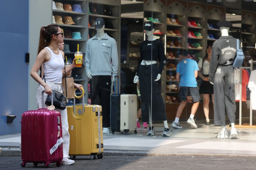
[[[155,129],[152,126],[152,119],[156,121],[164,121],[163,137],[171,136],[169,129],[166,112],[164,109],[164,102],[161,96],[161,72],[164,67],[164,45],[160,40],[157,40],[153,36],[155,30],[154,23],[149,21],[144,25],[144,30],[148,39],[140,44],[140,60],[138,65],[138,72],[136,73],[133,82],[140,83],[140,94],[141,94],[141,111],[142,111],[142,122],[149,122],[149,129],[147,135],[154,135]],[[153,45],[153,46],[152,46]],[[151,60],[151,48],[152,48],[152,60]],[[146,59],[145,59],[146,58]],[[159,69],[157,68],[156,60],[159,60]],[[162,63],[161,63],[162,62]],[[151,73],[152,69],[152,73]],[[157,74],[158,73],[158,74]],[[151,75],[152,80],[151,81]],[[152,85],[152,119],[151,119],[151,87]],[[160,88],[160,89],[159,89]]]

